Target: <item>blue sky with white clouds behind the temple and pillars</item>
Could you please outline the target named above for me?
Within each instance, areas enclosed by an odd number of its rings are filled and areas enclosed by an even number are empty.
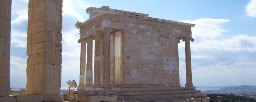
[[[256,85],[256,0],[63,0],[61,87],[79,83],[80,44],[76,21],[88,7],[149,14],[196,24],[191,28],[194,86]],[[26,87],[28,0],[12,0],[11,88]],[[185,86],[185,43],[179,44],[180,84]]]

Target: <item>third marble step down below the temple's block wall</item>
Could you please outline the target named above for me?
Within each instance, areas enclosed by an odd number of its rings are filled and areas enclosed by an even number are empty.
[[[194,93],[194,94],[163,94],[163,95],[130,95],[130,96],[119,96],[117,100],[144,100],[144,99],[181,99],[181,98],[199,98],[207,97],[206,93]]]

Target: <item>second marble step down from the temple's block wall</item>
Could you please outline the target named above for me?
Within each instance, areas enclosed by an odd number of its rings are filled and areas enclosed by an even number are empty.
[[[118,96],[130,95],[163,95],[163,94],[194,94],[201,93],[201,90],[162,90],[162,91],[119,91]]]

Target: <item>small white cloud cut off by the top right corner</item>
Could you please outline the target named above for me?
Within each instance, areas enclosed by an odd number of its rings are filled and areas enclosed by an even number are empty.
[[[245,12],[249,17],[256,17],[256,0],[251,0],[245,6]]]

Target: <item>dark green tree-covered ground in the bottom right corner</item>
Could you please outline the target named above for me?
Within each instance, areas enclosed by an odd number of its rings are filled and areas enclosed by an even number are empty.
[[[207,94],[209,102],[256,102],[254,98],[236,96],[233,94]]]

